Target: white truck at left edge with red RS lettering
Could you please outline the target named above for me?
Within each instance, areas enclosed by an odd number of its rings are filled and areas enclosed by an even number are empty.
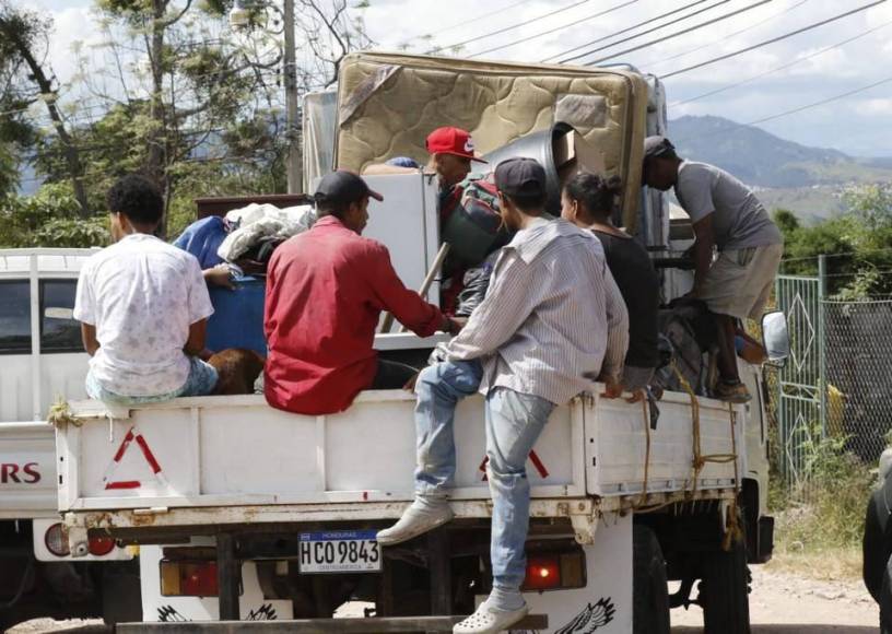
[[[46,422],[54,402],[85,397],[89,357],[72,309],[92,253],[0,249],[0,630],[36,617],[139,615],[114,607],[139,601],[136,577],[124,594],[131,553],[102,538],[87,542],[84,559],[68,552]]]

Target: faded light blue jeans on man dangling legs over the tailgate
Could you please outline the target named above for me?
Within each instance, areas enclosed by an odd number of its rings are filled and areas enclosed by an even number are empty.
[[[415,492],[422,498],[445,498],[454,483],[455,408],[460,399],[477,391],[481,376],[478,362],[438,363],[419,376]],[[553,409],[551,401],[503,387],[486,396],[486,477],[493,501],[490,556],[496,592],[517,592],[526,576],[524,547],[530,504],[527,457]]]

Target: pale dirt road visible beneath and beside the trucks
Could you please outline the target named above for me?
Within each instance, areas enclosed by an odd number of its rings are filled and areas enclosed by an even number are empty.
[[[877,634],[879,610],[856,580],[817,582],[753,567],[750,614],[753,634]],[[672,610],[672,634],[696,634],[703,627],[700,608]],[[97,621],[40,619],[13,627],[10,634],[107,632]]]

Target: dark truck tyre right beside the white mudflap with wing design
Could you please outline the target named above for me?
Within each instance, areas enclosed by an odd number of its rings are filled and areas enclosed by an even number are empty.
[[[669,634],[666,560],[657,536],[646,526],[632,529],[632,632]]]

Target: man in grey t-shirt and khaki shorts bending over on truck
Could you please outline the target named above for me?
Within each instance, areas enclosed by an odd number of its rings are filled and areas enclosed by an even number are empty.
[[[720,377],[714,396],[747,402],[752,397],[737,371],[735,334],[739,320],[762,316],[784,254],[780,231],[749,187],[714,165],[680,158],[664,137],[645,139],[642,180],[661,191],[674,187],[691,216],[696,239],[690,296],[706,304],[718,328]]]

